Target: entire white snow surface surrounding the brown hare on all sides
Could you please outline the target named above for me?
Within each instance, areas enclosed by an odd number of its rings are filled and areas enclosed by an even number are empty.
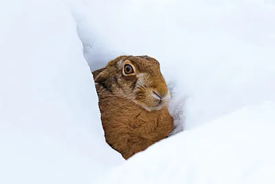
[[[0,183],[275,183],[274,19],[274,0],[0,1]],[[90,73],[120,54],[160,62],[184,125],[126,162]]]

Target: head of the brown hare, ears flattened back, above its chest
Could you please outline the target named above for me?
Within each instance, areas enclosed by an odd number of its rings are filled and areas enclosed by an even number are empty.
[[[161,110],[170,100],[159,62],[152,57],[117,57],[93,75],[96,85],[102,85],[114,96],[133,101],[147,111]]]

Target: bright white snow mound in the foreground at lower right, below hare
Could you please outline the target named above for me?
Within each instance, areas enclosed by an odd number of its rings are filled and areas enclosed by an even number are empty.
[[[97,184],[275,183],[275,103],[241,108],[136,154]]]

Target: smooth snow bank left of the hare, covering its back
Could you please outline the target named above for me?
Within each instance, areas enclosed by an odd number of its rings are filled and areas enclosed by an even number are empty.
[[[1,1],[0,24],[0,183],[93,183],[120,164],[65,3]]]

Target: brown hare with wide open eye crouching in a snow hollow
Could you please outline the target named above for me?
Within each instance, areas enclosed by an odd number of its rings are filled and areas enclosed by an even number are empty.
[[[92,74],[105,139],[124,159],[173,130],[173,117],[166,107],[170,92],[156,59],[120,56]]]

